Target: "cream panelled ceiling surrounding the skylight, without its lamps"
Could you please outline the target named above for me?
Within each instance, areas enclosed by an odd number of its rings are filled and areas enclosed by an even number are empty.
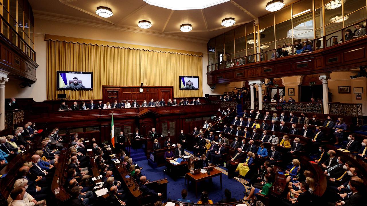
[[[55,16],[197,40],[208,40],[269,13],[265,10],[268,1],[270,0],[230,0],[201,10],[170,10],[149,5],[143,0],[29,0],[36,19]],[[296,0],[284,0],[284,3],[288,5],[294,1]],[[110,18],[98,16],[95,10],[99,6],[111,8],[113,16]],[[222,19],[228,17],[235,18],[235,25],[221,26]],[[137,24],[140,20],[150,21],[152,27],[139,28]],[[183,23],[190,23],[192,31],[181,32],[179,27]]]

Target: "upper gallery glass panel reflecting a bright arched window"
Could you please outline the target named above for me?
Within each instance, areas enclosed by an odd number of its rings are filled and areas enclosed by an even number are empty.
[[[313,37],[313,19],[312,12],[293,18],[293,36],[295,38],[309,38],[309,33]],[[302,36],[301,34],[307,34]]]

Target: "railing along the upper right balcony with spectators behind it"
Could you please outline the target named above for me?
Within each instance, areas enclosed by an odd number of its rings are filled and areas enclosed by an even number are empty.
[[[367,19],[359,23],[366,25],[366,22],[367,22]],[[255,62],[263,62],[267,60],[282,58],[284,56],[303,54],[306,52],[312,52],[315,50],[332,47],[334,45],[351,40],[352,38],[357,38],[357,37],[352,37],[352,36],[348,36],[346,38],[345,36],[345,30],[352,26],[353,25],[344,27],[343,29],[337,30],[336,32],[333,32],[331,34],[328,34],[320,38],[315,38],[313,40],[299,42],[299,43],[292,44],[292,45],[286,45],[284,47],[277,48],[277,49],[261,51],[256,54],[244,55],[236,59],[231,59],[227,61],[223,60],[222,62],[208,65],[207,66],[208,73],[211,71],[215,71],[215,70],[228,69],[231,67],[243,66],[243,65],[247,65],[247,64],[251,64]],[[341,37],[340,40],[338,40],[338,36]],[[307,46],[307,45],[310,45],[310,46]]]

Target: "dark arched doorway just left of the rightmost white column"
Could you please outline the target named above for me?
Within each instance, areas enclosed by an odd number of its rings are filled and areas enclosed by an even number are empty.
[[[309,74],[303,77],[299,92],[301,102],[310,102],[311,98],[322,99],[322,82],[319,77],[319,74]]]

